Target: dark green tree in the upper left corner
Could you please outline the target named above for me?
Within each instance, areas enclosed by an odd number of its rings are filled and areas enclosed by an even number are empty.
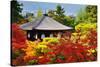
[[[22,4],[19,4],[17,0],[11,1],[11,22],[17,22],[20,19],[23,19],[22,15],[20,14],[22,12],[21,8]]]

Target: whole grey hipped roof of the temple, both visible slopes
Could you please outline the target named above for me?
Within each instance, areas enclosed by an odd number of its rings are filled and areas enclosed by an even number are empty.
[[[48,17],[48,16],[42,16],[39,17],[32,22],[28,22],[25,24],[22,24],[20,26],[21,29],[23,30],[68,30],[72,29],[72,27],[65,26],[54,19]]]

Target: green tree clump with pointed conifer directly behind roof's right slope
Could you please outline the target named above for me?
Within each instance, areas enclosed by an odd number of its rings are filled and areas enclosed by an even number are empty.
[[[55,10],[49,10],[48,16],[52,17],[56,21],[60,22],[61,24],[64,24],[66,26],[74,27],[75,23],[75,17],[74,16],[66,16],[64,11],[64,8],[61,7],[61,5],[57,5]]]

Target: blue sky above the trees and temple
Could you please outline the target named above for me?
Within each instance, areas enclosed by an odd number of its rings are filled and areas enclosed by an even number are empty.
[[[80,5],[80,4],[62,4],[62,3],[47,3],[47,2],[34,2],[34,1],[19,1],[19,3],[23,4],[22,6],[23,14],[27,12],[36,14],[38,9],[42,9],[43,13],[45,13],[50,9],[55,10],[56,6],[60,4],[65,10],[65,15],[76,16],[76,14],[80,9],[86,7],[86,5]]]

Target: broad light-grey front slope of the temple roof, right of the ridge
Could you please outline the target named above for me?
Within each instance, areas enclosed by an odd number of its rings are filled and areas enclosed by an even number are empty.
[[[41,23],[35,27],[37,30],[68,30],[72,29],[72,27],[65,26],[58,21],[46,16]]]

